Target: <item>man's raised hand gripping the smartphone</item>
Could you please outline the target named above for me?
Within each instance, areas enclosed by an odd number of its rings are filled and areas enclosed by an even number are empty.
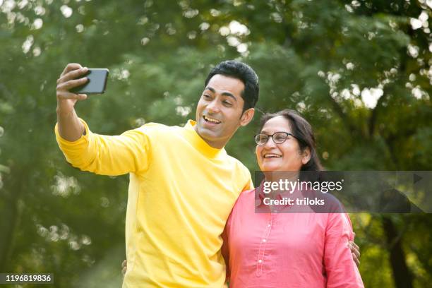
[[[79,78],[87,73],[88,68],[80,66],[80,64],[70,63],[64,68],[60,78],[57,80],[56,96],[57,96],[57,113],[70,114],[73,111],[73,106],[78,100],[85,100],[87,95],[75,94],[69,92],[72,88],[83,85],[88,81],[88,78]],[[79,78],[79,79],[76,79]]]

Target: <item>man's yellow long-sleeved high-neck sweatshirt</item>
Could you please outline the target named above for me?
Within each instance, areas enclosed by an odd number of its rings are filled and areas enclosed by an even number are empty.
[[[56,140],[73,167],[129,173],[123,287],[224,287],[221,234],[248,169],[186,126],[145,124],[120,136]]]

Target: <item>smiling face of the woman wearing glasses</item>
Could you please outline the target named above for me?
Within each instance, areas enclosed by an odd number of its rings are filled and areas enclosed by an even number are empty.
[[[284,116],[268,120],[260,133],[272,135],[276,132],[292,133],[289,121]],[[284,143],[276,144],[270,137],[264,145],[256,145],[256,159],[261,171],[300,171],[310,159],[310,152],[301,152],[296,138],[288,136]]]

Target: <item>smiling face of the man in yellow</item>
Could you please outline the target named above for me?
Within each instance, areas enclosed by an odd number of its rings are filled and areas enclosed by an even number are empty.
[[[237,128],[251,120],[242,116],[243,90],[241,80],[220,74],[213,76],[205,87],[196,107],[195,130],[213,148],[224,147]],[[253,109],[248,110],[253,116]]]

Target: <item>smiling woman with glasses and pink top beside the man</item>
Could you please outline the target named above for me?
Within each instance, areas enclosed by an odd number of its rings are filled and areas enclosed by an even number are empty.
[[[256,143],[265,181],[278,182],[282,172],[296,181],[301,172],[321,169],[311,125],[293,110],[265,114]],[[267,196],[317,195],[299,189],[273,192],[263,193],[262,184],[241,193],[234,205],[222,247],[229,287],[364,287],[348,247],[354,239],[349,217],[313,208],[305,212],[308,205],[300,212],[294,210],[298,205],[266,205]]]

